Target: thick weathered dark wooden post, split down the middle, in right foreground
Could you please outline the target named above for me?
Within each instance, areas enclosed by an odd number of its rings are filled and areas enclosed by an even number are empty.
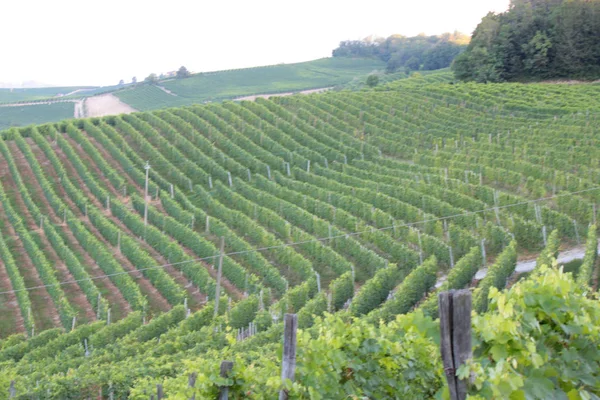
[[[471,292],[467,289],[442,292],[438,304],[442,361],[450,399],[464,400],[467,381],[458,379],[456,371],[472,356]]]

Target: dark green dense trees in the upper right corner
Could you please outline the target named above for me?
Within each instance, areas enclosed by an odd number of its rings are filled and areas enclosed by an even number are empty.
[[[511,0],[482,19],[453,68],[477,82],[597,79],[600,1]]]

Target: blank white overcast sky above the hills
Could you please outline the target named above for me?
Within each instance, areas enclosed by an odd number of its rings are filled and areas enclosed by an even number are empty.
[[[0,82],[112,85],[328,57],[370,34],[471,34],[509,0],[0,0]]]

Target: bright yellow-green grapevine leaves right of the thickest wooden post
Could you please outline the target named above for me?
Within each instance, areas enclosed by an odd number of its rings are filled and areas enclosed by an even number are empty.
[[[476,398],[596,398],[600,395],[600,308],[561,270],[541,267],[511,290],[490,291],[475,315]]]

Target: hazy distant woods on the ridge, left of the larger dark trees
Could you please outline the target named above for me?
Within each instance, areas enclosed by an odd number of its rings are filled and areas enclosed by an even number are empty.
[[[440,36],[413,37],[392,35],[342,41],[332,52],[333,57],[377,57],[387,63],[387,72],[398,69],[434,70],[450,66],[452,60],[465,51],[469,37],[458,32]]]

